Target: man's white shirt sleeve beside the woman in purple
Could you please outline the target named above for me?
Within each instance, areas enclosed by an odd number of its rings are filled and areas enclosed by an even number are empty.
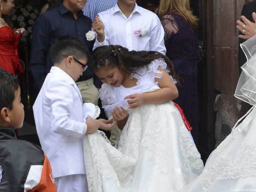
[[[158,51],[162,54],[166,54],[166,48],[164,45],[164,28],[159,20],[159,18],[155,15],[152,20],[152,26],[150,31],[150,50]]]

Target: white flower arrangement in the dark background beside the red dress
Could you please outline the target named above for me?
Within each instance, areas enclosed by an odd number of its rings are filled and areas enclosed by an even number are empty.
[[[26,29],[26,36],[21,37],[21,41],[31,40],[32,25],[38,17],[39,11],[30,5],[18,5],[10,12],[11,24],[13,30],[24,27]]]

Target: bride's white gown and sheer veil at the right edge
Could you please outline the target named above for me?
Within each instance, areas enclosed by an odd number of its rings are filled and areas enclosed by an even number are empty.
[[[256,36],[241,47],[248,61],[241,67],[234,96],[252,108],[210,154],[202,174],[182,192],[256,191]]]

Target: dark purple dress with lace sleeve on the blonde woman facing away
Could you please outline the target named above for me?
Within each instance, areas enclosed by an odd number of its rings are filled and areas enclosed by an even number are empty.
[[[166,56],[172,60],[180,78],[179,97],[175,100],[192,126],[192,136],[198,142],[198,33],[177,13],[161,18],[164,27]]]

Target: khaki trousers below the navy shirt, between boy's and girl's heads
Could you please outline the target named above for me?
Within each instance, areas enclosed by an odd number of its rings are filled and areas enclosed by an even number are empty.
[[[83,103],[98,105],[99,91],[93,84],[93,78],[77,82],[76,85],[81,92]]]

